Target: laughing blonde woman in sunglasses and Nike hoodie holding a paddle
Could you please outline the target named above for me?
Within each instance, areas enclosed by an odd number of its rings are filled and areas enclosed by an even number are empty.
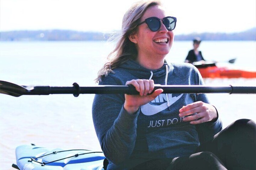
[[[192,64],[165,60],[176,21],[157,0],[137,2],[123,17],[97,81],[133,85],[139,94],[95,94],[92,118],[107,169],[256,169],[254,121],[237,120],[222,130],[206,94],[153,91],[155,84],[204,84]]]

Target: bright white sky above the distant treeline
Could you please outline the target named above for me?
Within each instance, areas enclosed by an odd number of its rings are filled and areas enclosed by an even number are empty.
[[[0,0],[0,30],[120,30],[138,0]],[[177,17],[175,34],[240,32],[256,26],[255,0],[162,0]]]

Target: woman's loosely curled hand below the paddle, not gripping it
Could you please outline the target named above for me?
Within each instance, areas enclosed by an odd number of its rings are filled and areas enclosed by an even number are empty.
[[[217,111],[215,107],[210,104],[203,103],[202,101],[197,101],[187,106],[183,106],[179,110],[180,117],[184,117],[184,122],[189,122],[190,124],[200,124],[203,122],[209,122],[217,118]],[[194,114],[197,113],[197,114]],[[192,115],[193,114],[193,115]],[[189,116],[191,115],[191,116]]]

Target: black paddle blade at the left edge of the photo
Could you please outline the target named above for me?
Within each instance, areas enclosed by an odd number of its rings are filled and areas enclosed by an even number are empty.
[[[27,89],[10,82],[0,80],[0,93],[8,94],[14,97],[19,97],[27,93]]]

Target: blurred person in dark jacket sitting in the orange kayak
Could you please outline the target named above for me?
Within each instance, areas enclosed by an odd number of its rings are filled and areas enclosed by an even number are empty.
[[[203,55],[201,51],[198,51],[198,47],[201,43],[201,40],[199,37],[195,37],[193,40],[193,47],[194,49],[190,50],[187,54],[187,58],[185,60],[186,63],[193,63],[196,61],[205,61],[203,59]]]

